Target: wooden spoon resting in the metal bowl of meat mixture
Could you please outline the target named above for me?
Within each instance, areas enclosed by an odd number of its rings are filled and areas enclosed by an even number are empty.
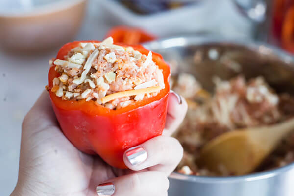
[[[207,143],[200,154],[199,165],[217,174],[248,174],[294,130],[294,118],[283,123],[246,128],[222,134]]]

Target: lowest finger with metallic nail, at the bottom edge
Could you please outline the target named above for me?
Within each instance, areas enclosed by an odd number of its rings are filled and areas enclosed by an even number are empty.
[[[169,180],[162,172],[139,172],[117,177],[96,187],[98,196],[167,196]]]

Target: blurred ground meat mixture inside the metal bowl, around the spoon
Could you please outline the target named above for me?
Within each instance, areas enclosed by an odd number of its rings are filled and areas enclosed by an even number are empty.
[[[173,90],[188,102],[187,116],[174,137],[184,147],[177,172],[187,175],[215,176],[197,166],[201,148],[215,137],[235,129],[270,125],[294,116],[294,97],[277,94],[263,77],[246,81],[241,75],[230,81],[214,78],[213,94],[203,90],[193,75],[181,73],[173,78]],[[258,171],[294,162],[294,132],[264,161]],[[234,175],[225,168],[222,176]]]

